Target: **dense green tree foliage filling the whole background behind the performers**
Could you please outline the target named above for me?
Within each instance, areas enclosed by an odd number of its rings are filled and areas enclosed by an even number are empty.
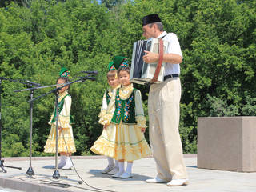
[[[96,82],[71,86],[76,154],[90,153],[101,134],[98,113],[107,63],[116,54],[131,59],[133,43],[143,38],[146,14],[159,14],[182,47],[180,133],[186,153],[196,152],[198,117],[255,114],[255,1],[34,0],[0,6],[0,77],[51,85],[62,66],[73,80],[78,71],[98,70]],[[15,93],[27,88],[17,82],[3,80],[1,86],[2,153],[28,155],[30,92]],[[35,90],[34,97],[47,91]],[[46,155],[53,106],[53,94],[34,102],[34,155]],[[146,101],[144,106],[147,111]]]

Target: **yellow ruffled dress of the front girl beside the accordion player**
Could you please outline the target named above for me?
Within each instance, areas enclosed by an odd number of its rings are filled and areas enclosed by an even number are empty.
[[[130,98],[133,92],[133,85],[122,86],[119,96],[122,100]],[[116,126],[116,146],[114,149],[114,157],[117,160],[124,159],[127,162],[140,158],[146,158],[151,154],[150,147],[146,142],[144,133],[141,128],[146,128],[146,118],[142,107],[142,95],[139,90],[135,90],[135,118],[137,124],[130,125],[120,122],[114,124]]]

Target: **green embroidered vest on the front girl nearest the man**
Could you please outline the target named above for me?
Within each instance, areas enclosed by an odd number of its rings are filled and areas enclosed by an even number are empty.
[[[135,90],[130,94],[130,98],[122,100],[119,95],[119,89],[115,97],[115,110],[111,122],[119,124],[122,120],[125,124],[137,124],[135,119]]]

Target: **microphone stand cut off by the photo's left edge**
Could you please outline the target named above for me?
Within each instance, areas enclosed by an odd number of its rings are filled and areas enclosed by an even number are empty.
[[[3,77],[0,77],[0,168],[2,169],[3,173],[7,173],[7,171],[4,169],[4,160],[2,160],[2,118],[1,118],[1,94],[2,94],[2,80],[8,80],[10,82],[18,82],[14,79],[11,79],[11,78],[3,78]],[[19,82],[19,83],[22,83],[22,84],[25,84],[24,82]],[[5,167],[9,167],[9,168],[13,168],[13,169],[18,169],[18,170],[21,170],[22,167],[15,167],[15,166],[5,166]]]

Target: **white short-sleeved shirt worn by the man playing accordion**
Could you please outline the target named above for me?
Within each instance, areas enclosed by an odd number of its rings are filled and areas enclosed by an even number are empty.
[[[163,36],[165,36],[165,37],[162,38]],[[181,46],[179,45],[178,38],[177,38],[176,34],[174,34],[174,33],[167,34],[166,31],[164,31],[164,32],[162,32],[162,34],[160,34],[158,36],[158,38],[162,38],[163,40],[169,42],[167,54],[178,54],[183,58]],[[174,64],[174,63],[166,62],[166,70],[165,70],[164,75],[166,76],[168,74],[180,74],[179,63]]]

